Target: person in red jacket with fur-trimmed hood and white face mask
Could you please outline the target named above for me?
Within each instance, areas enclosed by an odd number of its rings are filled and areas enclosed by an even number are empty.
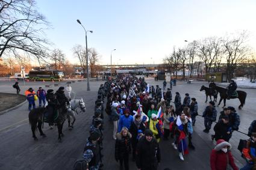
[[[231,154],[231,144],[219,139],[216,146],[211,150],[210,165],[211,170],[224,170],[233,168],[234,170],[239,170],[236,163],[234,162],[234,157]]]

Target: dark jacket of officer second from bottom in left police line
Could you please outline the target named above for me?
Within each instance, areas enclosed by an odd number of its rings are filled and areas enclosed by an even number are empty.
[[[87,150],[91,150],[93,153],[92,160],[89,162],[89,169],[98,167],[99,161],[101,160],[101,153],[98,142],[93,144],[90,138],[87,138],[86,146],[84,147],[84,152],[86,152]]]

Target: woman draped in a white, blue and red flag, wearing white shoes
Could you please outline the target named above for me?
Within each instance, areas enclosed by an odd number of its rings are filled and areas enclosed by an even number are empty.
[[[189,153],[186,144],[186,136],[188,134],[187,123],[188,120],[183,112],[177,117],[177,119],[173,123],[173,128],[175,128],[175,142],[173,142],[172,145],[175,150],[178,149],[181,160],[184,160],[184,154]],[[176,147],[176,145],[178,145],[178,148]]]

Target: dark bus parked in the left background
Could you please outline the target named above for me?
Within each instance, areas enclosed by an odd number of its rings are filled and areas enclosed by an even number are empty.
[[[64,78],[63,71],[60,70],[34,70],[28,73],[31,80],[60,80]]]

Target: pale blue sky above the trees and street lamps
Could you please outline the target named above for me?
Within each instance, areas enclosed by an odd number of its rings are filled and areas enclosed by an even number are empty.
[[[248,30],[248,42],[256,49],[256,1],[152,1],[108,0],[66,1],[37,0],[40,13],[51,22],[46,35],[55,48],[63,50],[70,62],[76,62],[72,47],[85,45],[101,55],[101,64],[161,63],[173,46],[182,47],[184,40],[222,36]],[[152,59],[151,59],[152,58]],[[120,60],[119,60],[120,59]]]

